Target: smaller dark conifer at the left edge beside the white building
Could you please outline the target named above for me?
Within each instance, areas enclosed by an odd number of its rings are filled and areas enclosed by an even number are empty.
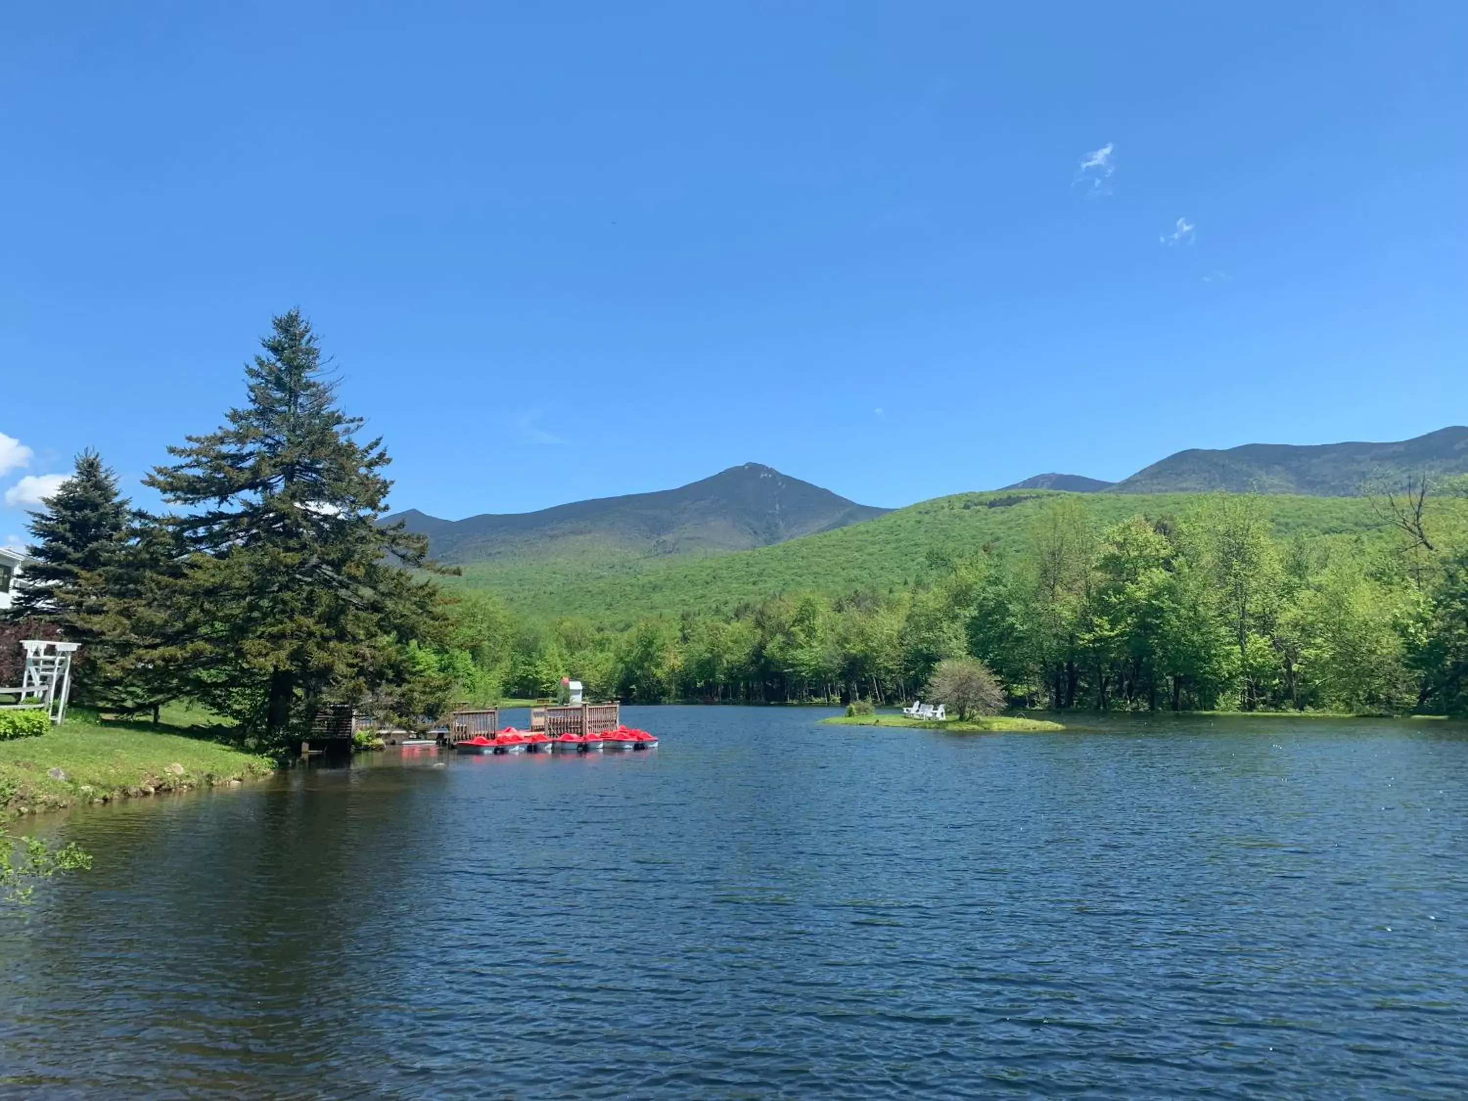
[[[31,561],[18,578],[15,618],[47,619],[72,642],[91,643],[81,625],[97,596],[91,580],[128,540],[131,512],[117,492],[117,476],[95,451],[76,457],[76,471],[31,514]]]

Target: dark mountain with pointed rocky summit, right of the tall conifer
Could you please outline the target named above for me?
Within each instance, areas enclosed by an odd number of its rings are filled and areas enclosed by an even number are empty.
[[[537,512],[386,517],[429,537],[442,562],[727,553],[829,531],[888,509],[859,505],[757,462],[678,489],[577,501]]]

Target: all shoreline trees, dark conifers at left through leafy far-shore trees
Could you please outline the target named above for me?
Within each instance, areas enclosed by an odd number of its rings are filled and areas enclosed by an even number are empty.
[[[84,452],[32,517],[0,650],[47,633],[82,643],[82,706],[200,705],[250,753],[279,752],[333,702],[414,724],[573,677],[633,703],[885,705],[953,661],[986,666],[1009,709],[1468,708],[1453,483],[1387,487],[1377,524],[1334,534],[1280,531],[1252,495],[1120,520],[1053,495],[1003,546],[929,548],[903,586],[622,625],[527,617],[442,584],[454,571],[426,542],[382,523],[386,449],[338,407],[307,320],[276,317],[261,344],[245,401],[145,479],[164,509],[134,508]]]

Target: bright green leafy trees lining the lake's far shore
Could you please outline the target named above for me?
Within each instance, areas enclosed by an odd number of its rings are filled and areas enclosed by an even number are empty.
[[[470,590],[455,605],[464,644],[436,661],[486,697],[539,694],[574,668],[634,702],[893,703],[972,656],[1025,709],[1461,713],[1468,499],[1453,483],[1406,489],[1356,502],[1373,524],[1326,533],[1280,533],[1252,495],[1108,523],[1091,499],[1055,495],[1004,546],[929,549],[904,586],[624,625]]]

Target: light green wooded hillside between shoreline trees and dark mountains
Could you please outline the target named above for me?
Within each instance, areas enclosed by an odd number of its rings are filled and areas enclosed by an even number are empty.
[[[1017,550],[1048,490],[960,493],[935,498],[876,520],[775,546],[718,556],[637,556],[622,549],[577,556],[517,556],[470,562],[458,584],[490,589],[533,618],[578,615],[621,627],[647,614],[730,611],[781,592],[888,590],[923,571],[929,552],[969,553],[984,545]],[[1132,515],[1176,515],[1195,493],[1086,493],[1095,524]],[[1340,536],[1381,528],[1370,501],[1268,495],[1260,499],[1280,537]]]

